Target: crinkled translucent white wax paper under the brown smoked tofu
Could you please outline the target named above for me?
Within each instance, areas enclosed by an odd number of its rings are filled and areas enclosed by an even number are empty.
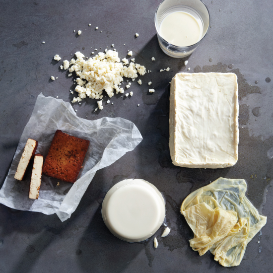
[[[57,129],[90,140],[83,168],[74,184],[42,175],[39,199],[31,200],[28,198],[30,177],[24,181],[14,179],[25,143],[28,138],[38,140],[36,153],[45,158]],[[131,121],[107,117],[92,121],[82,119],[76,116],[70,103],[41,93],[0,190],[0,203],[20,210],[57,213],[65,221],[75,211],[96,171],[132,151],[141,140],[142,136]],[[57,182],[60,182],[58,187]]]

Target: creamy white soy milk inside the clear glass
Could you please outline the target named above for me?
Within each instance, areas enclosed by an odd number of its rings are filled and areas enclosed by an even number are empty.
[[[188,47],[196,44],[202,38],[202,22],[184,11],[168,14],[159,27],[160,36],[168,43]]]

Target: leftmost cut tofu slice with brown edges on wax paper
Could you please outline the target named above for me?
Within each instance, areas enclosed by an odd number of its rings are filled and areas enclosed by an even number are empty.
[[[36,149],[38,146],[38,141],[28,138],[26,141],[26,145],[24,147],[24,151],[22,153],[22,156],[20,158],[16,173],[14,175],[14,178],[17,180],[23,180],[23,177],[26,172],[26,168],[31,160],[31,158],[34,156]]]

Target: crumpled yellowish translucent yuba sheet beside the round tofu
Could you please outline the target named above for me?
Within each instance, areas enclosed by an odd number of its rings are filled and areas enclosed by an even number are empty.
[[[240,265],[248,242],[267,223],[246,189],[243,179],[220,177],[183,201],[181,213],[194,232],[190,246],[200,256],[209,250],[224,267]]]

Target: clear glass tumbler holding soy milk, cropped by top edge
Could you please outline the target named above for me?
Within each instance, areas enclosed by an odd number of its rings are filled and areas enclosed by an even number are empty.
[[[161,49],[171,57],[183,58],[205,37],[209,12],[201,0],[163,0],[154,21]]]

